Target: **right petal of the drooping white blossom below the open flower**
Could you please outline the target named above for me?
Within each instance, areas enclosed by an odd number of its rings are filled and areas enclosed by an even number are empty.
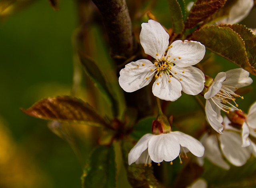
[[[195,156],[201,157],[204,155],[204,146],[195,138],[179,131],[174,131],[170,134],[175,135],[176,139],[180,142],[180,145],[188,148],[188,150],[190,150],[190,152]]]

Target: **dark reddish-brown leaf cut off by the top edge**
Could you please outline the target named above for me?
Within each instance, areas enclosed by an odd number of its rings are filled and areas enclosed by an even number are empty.
[[[226,0],[197,0],[190,10],[185,28],[194,28],[199,22],[206,20],[222,8],[225,2]]]

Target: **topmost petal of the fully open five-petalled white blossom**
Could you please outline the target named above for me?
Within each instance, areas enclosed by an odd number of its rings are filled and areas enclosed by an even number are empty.
[[[169,34],[154,20],[148,20],[148,23],[142,23],[141,26],[140,44],[145,53],[160,59],[168,47]]]

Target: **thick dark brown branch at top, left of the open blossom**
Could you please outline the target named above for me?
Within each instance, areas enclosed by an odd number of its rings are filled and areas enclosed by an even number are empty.
[[[134,55],[136,42],[125,0],[92,0],[102,14],[111,56],[118,65]]]

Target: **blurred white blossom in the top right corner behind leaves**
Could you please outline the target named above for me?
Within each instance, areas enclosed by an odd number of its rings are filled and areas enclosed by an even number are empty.
[[[254,5],[254,0],[238,0],[231,7],[229,15],[222,20],[216,22],[219,24],[236,24],[242,21],[250,13]]]

